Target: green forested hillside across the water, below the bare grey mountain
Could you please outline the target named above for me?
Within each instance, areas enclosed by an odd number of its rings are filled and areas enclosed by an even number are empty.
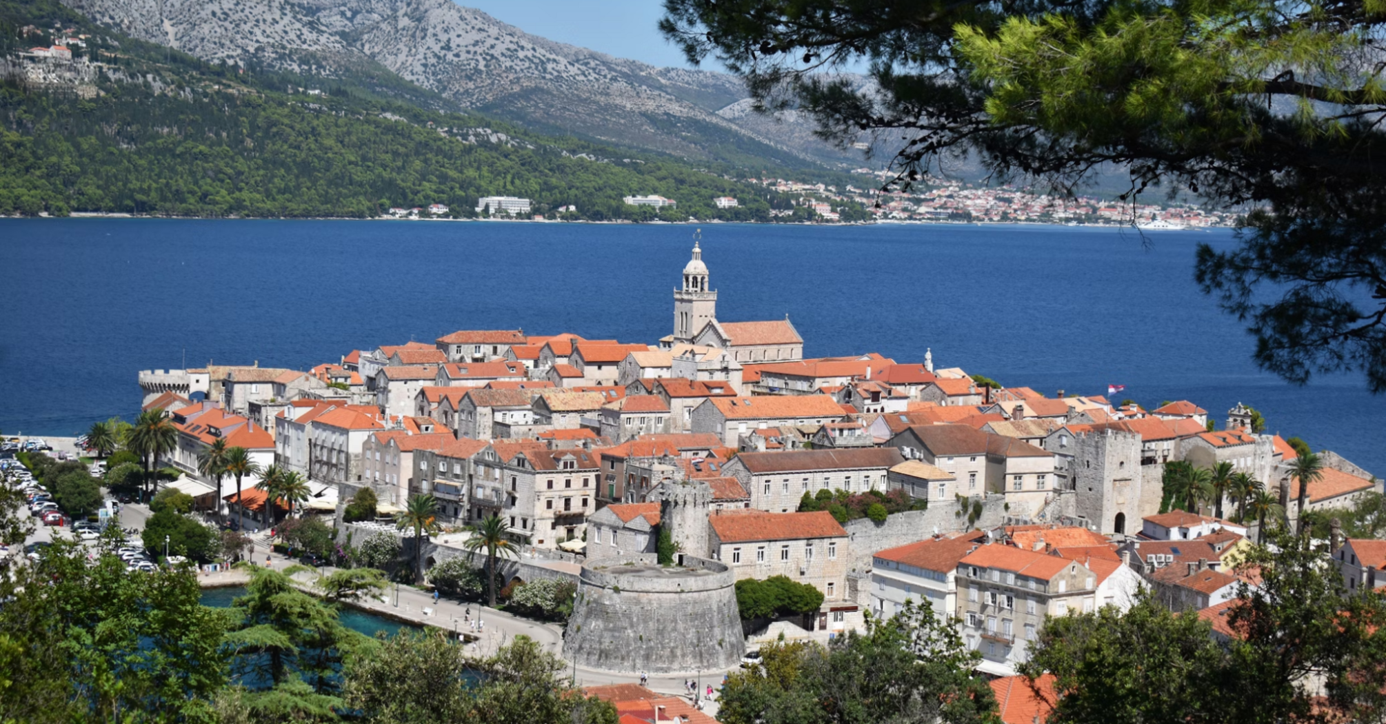
[[[101,29],[57,3],[0,3],[8,49],[43,46],[69,28],[91,35],[78,53],[100,61],[90,78],[39,85],[32,71],[11,72],[0,85],[0,214],[373,216],[446,204],[470,215],[480,196],[521,196],[550,216],[574,205],[586,219],[653,219],[654,209],[621,197],[660,194],[678,201],[667,219],[769,221],[772,205],[791,205],[730,180],[729,168],[423,110],[394,100],[431,93],[403,80],[381,89],[229,69]],[[742,207],[717,209],[718,196]]]

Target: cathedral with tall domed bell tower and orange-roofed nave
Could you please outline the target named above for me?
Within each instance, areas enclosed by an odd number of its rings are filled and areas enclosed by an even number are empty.
[[[708,287],[703,250],[693,243],[693,258],[683,266],[683,287],[674,290],[674,334],[660,347],[694,344],[726,350],[737,362],[790,362],[804,358],[804,338],[789,315],[773,322],[718,322],[717,290]]]

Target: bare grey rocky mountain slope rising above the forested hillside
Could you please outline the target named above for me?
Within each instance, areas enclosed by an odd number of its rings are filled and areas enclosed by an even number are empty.
[[[851,168],[797,117],[747,112],[726,74],[656,68],[528,35],[452,0],[64,0],[204,60],[341,76],[377,68],[545,133],[755,168]]]

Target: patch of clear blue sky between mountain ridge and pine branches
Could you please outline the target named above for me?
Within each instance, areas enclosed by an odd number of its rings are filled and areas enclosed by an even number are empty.
[[[459,4],[549,40],[651,65],[687,65],[656,28],[663,15],[660,0],[460,0]],[[703,67],[721,69],[715,62]]]

